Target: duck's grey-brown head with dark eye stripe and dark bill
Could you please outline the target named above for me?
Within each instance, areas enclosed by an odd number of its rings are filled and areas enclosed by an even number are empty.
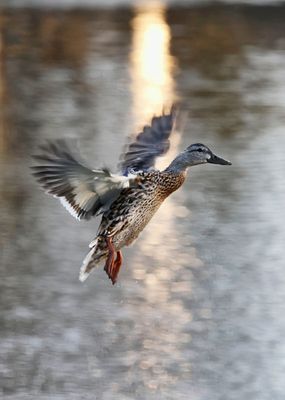
[[[209,147],[202,143],[194,143],[184,150],[184,156],[189,162],[189,167],[192,165],[211,163],[220,165],[231,165],[230,161],[224,160],[221,157],[216,156]]]

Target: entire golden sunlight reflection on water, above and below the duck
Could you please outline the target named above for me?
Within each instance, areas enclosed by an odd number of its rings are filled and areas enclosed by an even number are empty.
[[[171,31],[166,21],[165,6],[156,4],[136,8],[132,28],[133,117],[135,127],[140,128],[154,114],[160,114],[164,107],[168,108],[176,101],[173,79],[175,60],[170,54]],[[174,133],[164,166],[178,152],[179,142],[180,135]],[[189,263],[190,249],[184,250],[185,237],[177,231],[178,218],[187,218],[188,214],[186,207],[179,206],[172,198],[167,199],[138,240],[131,260],[130,270],[134,279],[139,281],[138,290],[144,298],[140,309],[136,305],[134,310],[141,315],[143,337],[147,340],[147,347],[140,354],[139,367],[145,386],[152,390],[158,385],[175,383],[167,367],[161,364],[161,354],[171,354],[171,359],[180,365],[182,360],[177,337],[184,338],[185,342],[191,341],[191,336],[184,332],[191,323],[192,315],[181,301],[183,293],[189,296],[191,292],[191,274],[183,272]],[[172,288],[175,290],[172,291]],[[151,327],[149,319],[152,320]],[[169,325],[172,326],[172,334]],[[156,326],[155,330],[153,326]],[[183,365],[180,374],[189,377],[191,365],[188,360],[184,360]],[[155,369],[158,374],[152,381],[145,373]]]

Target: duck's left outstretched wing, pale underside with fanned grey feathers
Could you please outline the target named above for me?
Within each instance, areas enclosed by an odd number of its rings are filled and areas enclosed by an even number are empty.
[[[135,176],[118,176],[107,169],[91,170],[80,164],[63,140],[41,146],[33,156],[39,165],[33,175],[47,193],[58,197],[77,219],[89,219],[109,208],[121,190],[135,181]]]

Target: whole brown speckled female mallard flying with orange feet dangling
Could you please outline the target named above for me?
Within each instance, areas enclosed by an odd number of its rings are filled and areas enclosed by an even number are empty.
[[[104,269],[115,284],[122,265],[121,249],[138,237],[166,197],[183,184],[188,167],[231,164],[196,143],[178,154],[164,171],[154,169],[156,157],[169,149],[175,116],[172,109],[169,114],[152,118],[151,125],[128,146],[119,175],[83,166],[64,141],[42,146],[42,154],[35,156],[41,163],[32,167],[34,176],[74,217],[81,220],[103,214],[80,270],[82,282],[105,260]]]

